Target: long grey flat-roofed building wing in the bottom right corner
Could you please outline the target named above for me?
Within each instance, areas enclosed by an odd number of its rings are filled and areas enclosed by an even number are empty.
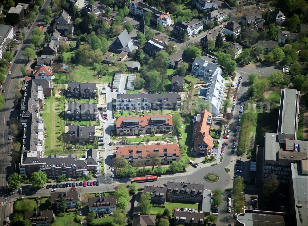
[[[308,196],[306,196],[308,179],[307,159],[302,159],[298,163],[291,163],[291,178],[289,181],[290,212],[296,218],[293,223],[298,226],[304,226],[306,222],[302,219],[308,218]]]

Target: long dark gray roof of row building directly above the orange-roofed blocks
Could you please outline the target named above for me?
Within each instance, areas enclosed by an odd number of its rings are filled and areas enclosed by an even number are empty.
[[[148,99],[150,104],[157,103],[158,99],[161,99],[163,102],[164,98],[168,98],[168,102],[176,103],[178,99],[181,99],[181,96],[179,93],[118,93],[116,99],[120,99],[120,102],[123,102],[123,99],[127,99],[128,102],[130,102],[130,99],[134,99],[135,103],[138,103],[138,99],[144,101],[145,98]]]

